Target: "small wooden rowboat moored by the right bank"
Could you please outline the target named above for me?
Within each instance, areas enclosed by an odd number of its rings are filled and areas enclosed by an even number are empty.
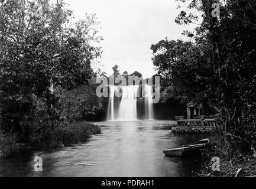
[[[206,148],[209,143],[209,138],[206,138],[197,142],[193,142],[192,144],[182,146],[181,148],[166,149],[163,152],[166,156],[185,156],[200,152],[200,150]]]

